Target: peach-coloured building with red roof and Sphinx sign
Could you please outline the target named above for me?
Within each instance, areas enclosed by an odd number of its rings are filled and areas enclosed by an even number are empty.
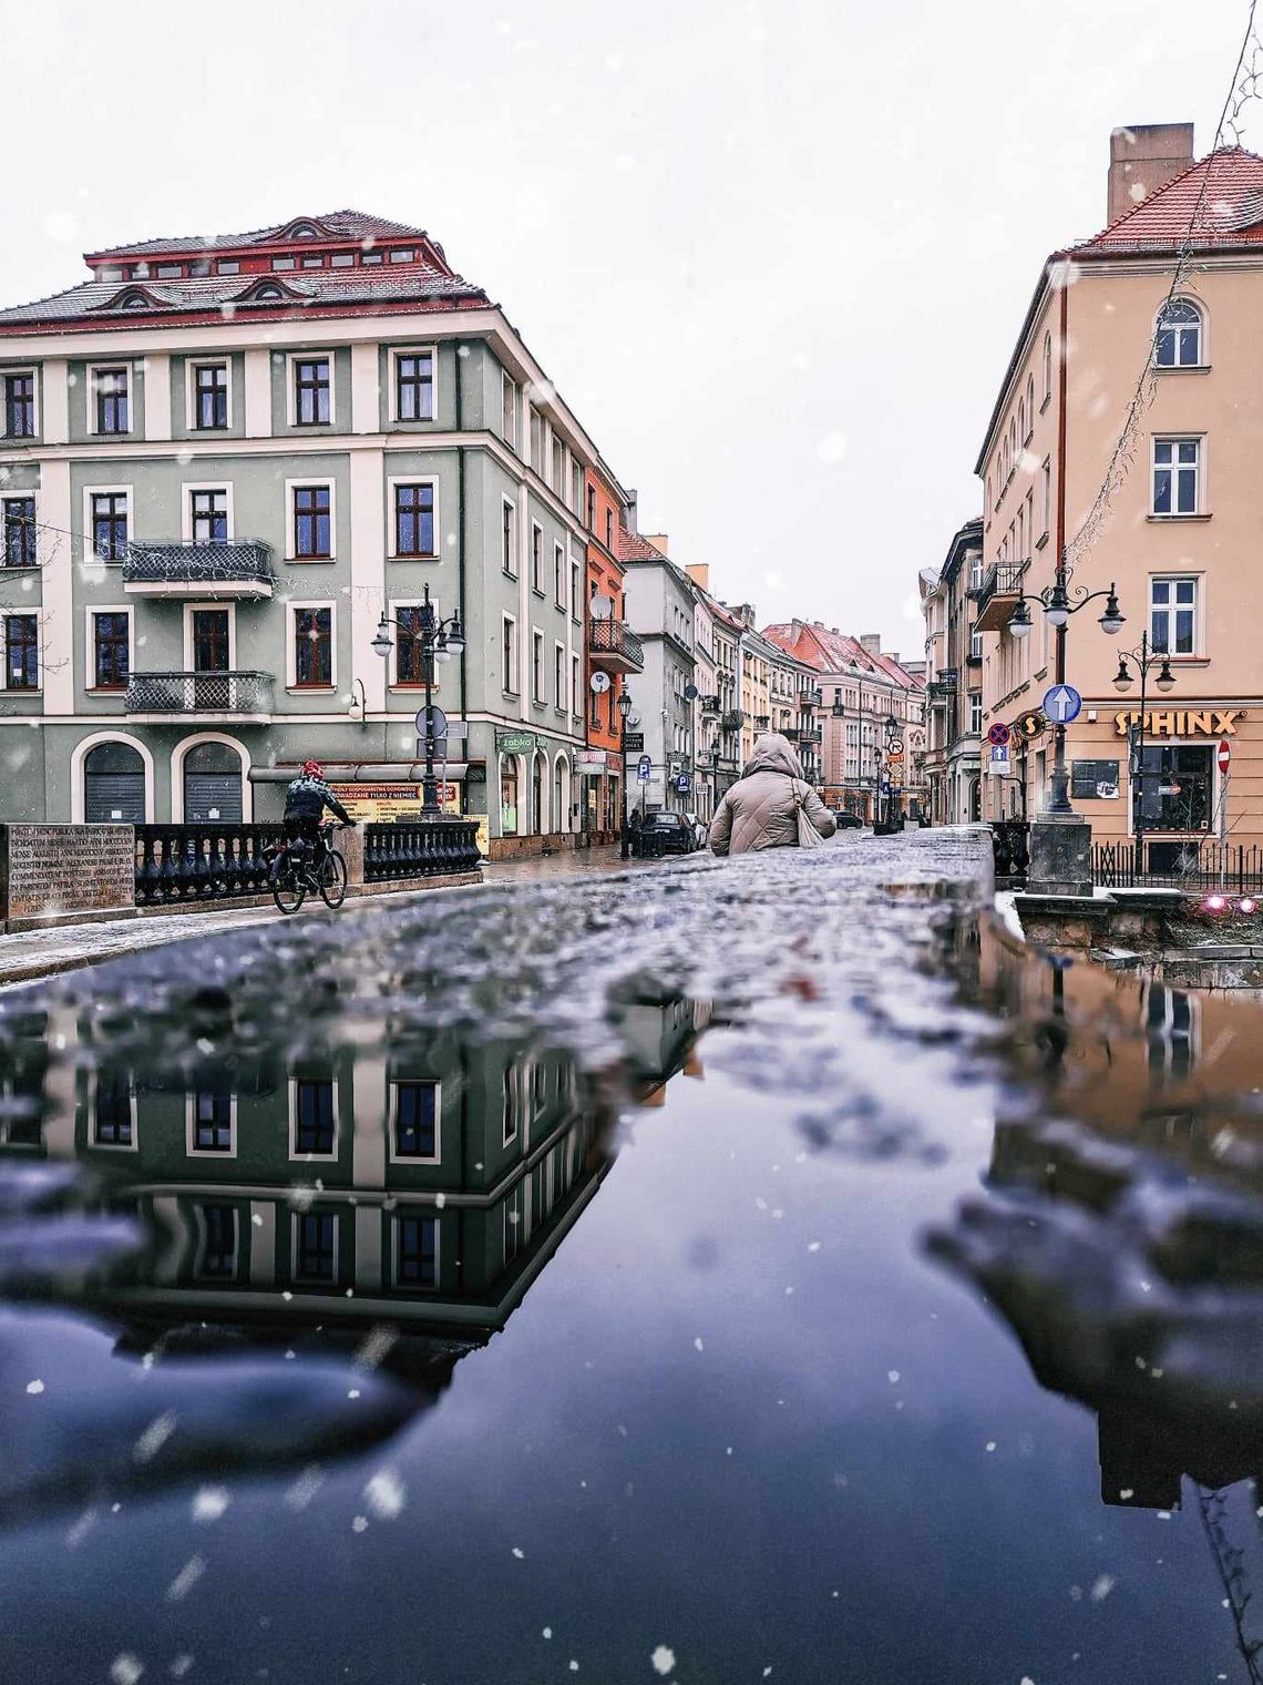
[[[1216,836],[1221,817],[1229,841],[1263,842],[1263,158],[1224,148],[1194,162],[1191,125],[1123,130],[1110,204],[1127,209],[1046,261],[977,462],[983,733],[1027,726],[1007,768],[992,772],[983,741],[982,812],[1034,817],[1046,804],[1052,731],[1039,706],[1056,639],[1037,593],[1064,551],[1071,602],[1115,583],[1127,617],[1105,635],[1101,600],[1066,635],[1066,679],[1083,694],[1066,730],[1071,802],[1095,841],[1132,836],[1140,800],[1127,743],[1140,686],[1115,689],[1120,654],[1147,634],[1170,661],[1174,687],[1157,694],[1150,672],[1145,699],[1157,866]],[[1026,639],[1010,632],[1022,598]]]

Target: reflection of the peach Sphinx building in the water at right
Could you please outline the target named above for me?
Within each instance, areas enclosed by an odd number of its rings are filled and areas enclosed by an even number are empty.
[[[1196,1513],[1263,1682],[1263,1016],[1251,996],[955,944],[1034,1078],[930,1249],[1096,1415],[1101,1501]],[[1031,1089],[1027,1087],[1027,1095]]]

